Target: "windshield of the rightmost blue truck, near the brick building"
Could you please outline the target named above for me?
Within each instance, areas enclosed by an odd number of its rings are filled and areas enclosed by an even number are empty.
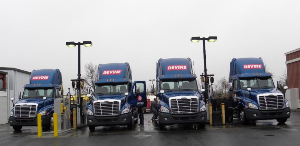
[[[271,77],[240,78],[241,89],[275,88]]]

